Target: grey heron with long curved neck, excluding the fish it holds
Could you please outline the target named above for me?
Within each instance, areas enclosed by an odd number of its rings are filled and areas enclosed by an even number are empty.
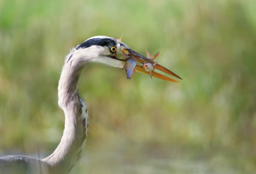
[[[22,155],[0,156],[0,174],[67,174],[73,169],[83,154],[89,125],[86,103],[79,97],[77,90],[79,77],[86,67],[92,65],[123,68],[126,57],[125,54],[118,52],[119,49],[136,61],[142,63],[153,61],[131,50],[123,42],[117,43],[116,39],[107,36],[89,38],[76,48],[72,48],[65,57],[59,79],[58,104],[65,114],[64,131],[59,145],[45,159]],[[155,65],[156,69],[181,79],[161,65],[156,63]],[[138,65],[135,70],[151,75]],[[152,76],[175,82],[155,72]]]

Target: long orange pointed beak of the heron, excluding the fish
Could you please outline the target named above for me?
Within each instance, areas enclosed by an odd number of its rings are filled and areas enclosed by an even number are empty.
[[[160,64],[158,64],[157,62],[155,62],[153,59],[148,59],[145,56],[137,53],[136,51],[133,51],[132,49],[123,48],[123,49],[121,49],[121,51],[123,52],[123,54],[125,54],[125,56],[131,57],[131,59],[133,59],[135,61],[138,61],[138,62],[141,62],[141,63],[150,63],[154,66],[155,69],[158,69],[161,72],[165,72],[167,74],[170,74],[170,75],[172,75],[172,76],[174,76],[178,79],[182,79],[181,77],[179,77],[174,72],[170,71],[169,69],[167,69],[167,68],[161,66]],[[166,76],[164,76],[162,74],[159,74],[157,72],[154,72],[154,71],[147,72],[141,66],[138,66],[138,65],[136,65],[135,71],[136,72],[141,72],[141,73],[144,73],[144,74],[148,74],[148,75],[151,75],[152,77],[156,77],[156,78],[159,78],[159,79],[163,79],[163,80],[167,80],[167,81],[171,81],[171,82],[179,82],[177,80],[166,77]]]

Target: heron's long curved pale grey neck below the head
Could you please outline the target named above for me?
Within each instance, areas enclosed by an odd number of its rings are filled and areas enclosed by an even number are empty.
[[[64,172],[69,172],[80,159],[86,144],[89,124],[87,106],[78,95],[77,83],[90,61],[81,61],[81,56],[74,55],[74,51],[73,49],[67,55],[59,79],[59,107],[65,113],[63,136],[55,151],[43,159],[58,171]]]

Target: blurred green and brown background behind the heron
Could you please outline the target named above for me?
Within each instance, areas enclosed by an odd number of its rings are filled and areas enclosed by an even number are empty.
[[[64,56],[121,34],[184,80],[86,69],[89,137],[73,173],[255,173],[255,0],[0,0],[0,154],[51,154]]]

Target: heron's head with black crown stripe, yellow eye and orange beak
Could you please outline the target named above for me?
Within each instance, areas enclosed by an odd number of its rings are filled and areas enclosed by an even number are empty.
[[[138,63],[135,69],[137,72],[151,75],[151,72],[146,72],[139,65],[140,63],[146,62],[151,63],[152,65],[154,64],[154,68],[159,69],[162,72],[181,79],[177,74],[174,74],[169,69],[162,67],[152,59],[148,59],[145,56],[130,49],[126,44],[121,42],[121,38],[122,37],[120,37],[120,39],[115,39],[107,36],[94,36],[78,45],[75,49],[78,52],[77,54],[82,57],[84,62],[88,61],[87,64],[100,64],[110,67],[123,68],[125,60],[130,57]],[[157,72],[152,72],[152,76],[159,79],[178,82]]]

